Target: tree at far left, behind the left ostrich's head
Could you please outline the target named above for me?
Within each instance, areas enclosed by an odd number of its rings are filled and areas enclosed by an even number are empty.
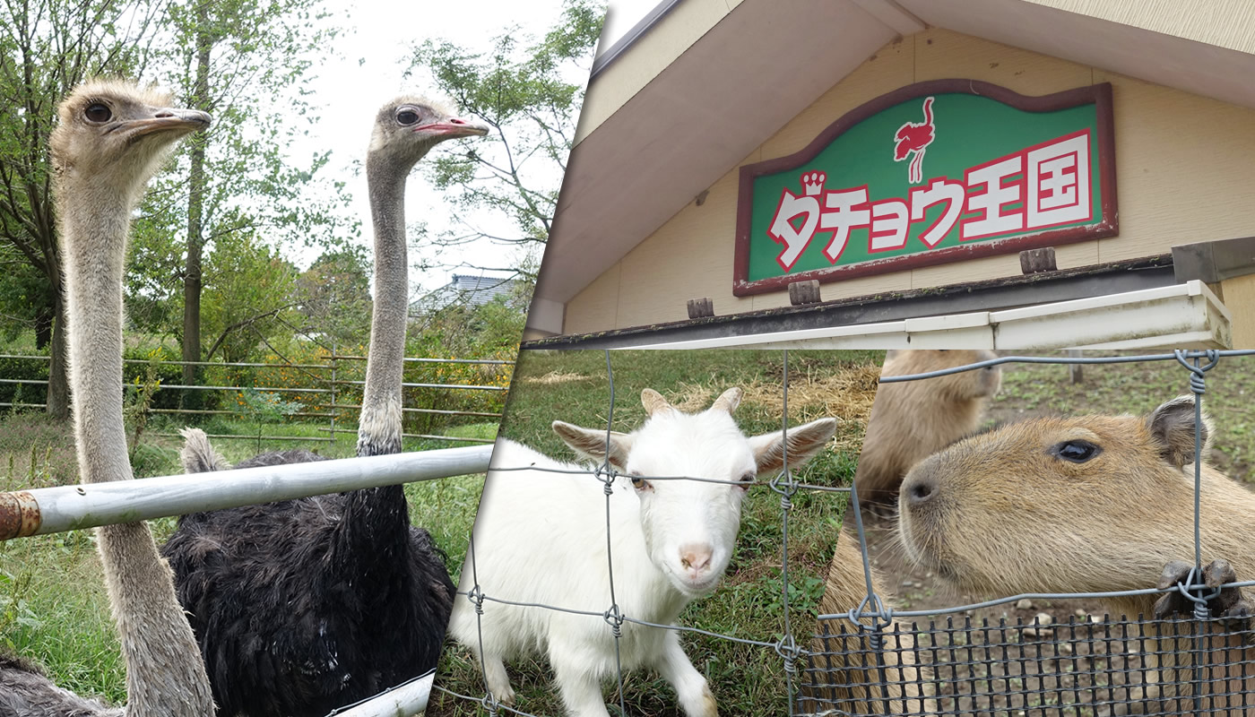
[[[97,74],[139,75],[153,55],[161,1],[14,0],[0,8],[0,246],[20,256],[30,319],[50,343],[48,412],[69,416],[60,252],[49,191],[56,103]],[[44,290],[33,290],[30,279]],[[10,289],[13,284],[10,284]]]

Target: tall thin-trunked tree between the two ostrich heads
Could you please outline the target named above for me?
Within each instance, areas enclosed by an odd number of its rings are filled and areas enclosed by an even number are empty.
[[[315,50],[335,35],[325,18],[321,0],[184,0],[169,9],[178,85],[192,107],[216,118],[181,157],[186,183],[158,182],[141,230],[147,241],[186,237],[181,270],[164,278],[164,291],[173,293],[177,281],[181,293],[186,362],[207,358],[201,296],[208,245],[240,232],[265,234],[275,244],[309,236],[314,227],[356,232],[356,220],[338,211],[340,200],[310,201],[320,195],[310,183],[329,153],[305,166],[285,153],[290,139],[318,119],[300,80]],[[143,250],[136,255],[143,257]],[[183,382],[196,383],[200,373],[184,365]]]

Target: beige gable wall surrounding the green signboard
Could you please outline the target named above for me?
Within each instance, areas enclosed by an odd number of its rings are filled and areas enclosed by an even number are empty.
[[[1048,94],[1111,82],[1119,236],[1057,249],[1060,269],[1165,254],[1176,244],[1255,234],[1255,111],[943,29],[882,48],[740,163],[789,154],[858,104],[939,78]],[[563,333],[688,318],[688,299],[715,314],[788,305],[788,293],[732,295],[738,168],[717,181],[576,295]],[[1015,254],[868,276],[821,289],[823,300],[1018,275]]]

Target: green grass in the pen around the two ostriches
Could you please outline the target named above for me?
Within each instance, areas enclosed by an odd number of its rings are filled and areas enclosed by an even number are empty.
[[[137,477],[181,473],[176,432],[183,424],[154,417],[133,452]],[[256,434],[248,422],[213,421],[210,433]],[[324,426],[271,423],[267,436],[326,436]],[[496,423],[451,429],[463,438],[492,438]],[[329,457],[350,457],[356,436],[338,433],[328,442],[264,442],[262,450],[306,448]],[[213,445],[236,462],[257,453],[256,441],[216,438]],[[405,439],[407,451],[447,448],[461,442]],[[78,482],[72,426],[43,413],[0,414],[0,491]],[[405,486],[410,519],[428,527],[448,554],[451,570],[461,568],[479,502],[483,476],[458,476]],[[149,521],[158,542],[174,530],[176,519]],[[456,573],[454,573],[456,574]],[[0,649],[41,663],[56,684],[79,694],[125,701],[125,672],[117,632],[109,618],[104,578],[90,530],[0,542]]]

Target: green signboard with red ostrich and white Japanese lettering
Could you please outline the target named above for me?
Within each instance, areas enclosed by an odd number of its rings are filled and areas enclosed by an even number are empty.
[[[1024,97],[924,82],[740,168],[733,293],[1116,232],[1109,84]]]

